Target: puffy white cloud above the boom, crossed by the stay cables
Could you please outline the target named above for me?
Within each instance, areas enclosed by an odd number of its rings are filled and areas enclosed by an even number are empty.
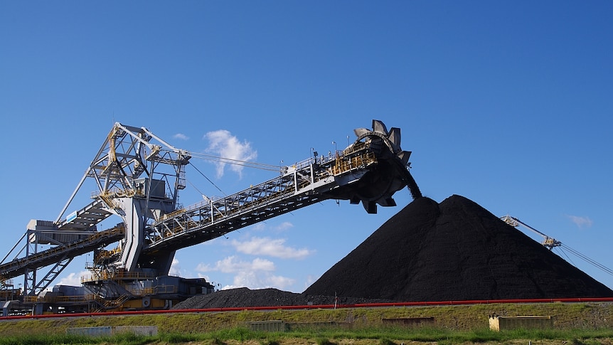
[[[240,140],[233,136],[225,129],[220,129],[215,132],[204,134],[208,139],[208,148],[206,152],[215,154],[225,159],[233,159],[235,161],[252,161],[257,158],[257,152],[251,148],[250,142]],[[225,162],[215,161],[217,167],[217,177],[223,176]],[[238,164],[230,164],[230,170],[242,177],[242,168],[244,166]]]

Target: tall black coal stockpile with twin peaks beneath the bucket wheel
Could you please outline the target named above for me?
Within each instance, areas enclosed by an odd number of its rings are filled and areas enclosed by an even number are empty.
[[[304,294],[395,301],[612,297],[613,291],[462,196],[418,198]]]

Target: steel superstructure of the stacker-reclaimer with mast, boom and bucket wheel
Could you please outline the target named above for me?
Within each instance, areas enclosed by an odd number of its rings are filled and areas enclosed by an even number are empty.
[[[144,127],[116,123],[58,218],[28,224],[26,234],[0,262],[0,277],[24,275],[25,293],[33,296],[46,289],[70,260],[92,251],[94,276],[102,277],[101,271],[164,276],[176,250],[319,201],[348,200],[376,213],[377,206],[395,206],[392,196],[405,186],[414,198],[421,196],[409,171],[410,152],[400,148],[400,129],[388,131],[383,122],[373,120],[372,129],[354,132],[356,141],[343,151],[327,156],[313,152],[293,166],[267,166],[193,154]],[[230,196],[181,208],[178,192],[186,187],[185,167],[193,156],[276,169],[280,174]],[[98,189],[92,202],[65,216],[86,179],[93,179]],[[97,224],[112,215],[122,222],[97,230]],[[23,241],[23,248],[16,250]],[[116,249],[105,250],[116,242]],[[38,244],[53,248],[37,251]],[[53,267],[39,279],[37,270],[48,266]]]

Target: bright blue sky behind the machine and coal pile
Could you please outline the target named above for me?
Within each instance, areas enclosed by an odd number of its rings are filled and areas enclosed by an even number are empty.
[[[612,267],[612,16],[611,1],[0,1],[0,252],[55,220],[116,121],[291,164],[378,119],[402,129],[425,196],[466,196]],[[275,176],[193,163],[227,194]],[[181,203],[220,195],[187,174]],[[410,193],[395,199],[377,215],[318,203],[180,250],[173,272],[302,292]]]

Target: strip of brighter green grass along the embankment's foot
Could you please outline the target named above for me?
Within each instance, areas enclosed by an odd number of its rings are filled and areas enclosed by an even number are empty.
[[[0,345],[38,345],[38,344],[184,344],[192,341],[206,341],[207,344],[226,344],[227,341],[257,340],[260,344],[283,344],[287,339],[311,339],[316,344],[339,344],[341,339],[372,339],[381,345],[400,344],[401,341],[437,342],[438,344],[485,343],[493,341],[503,343],[516,339],[532,341],[560,340],[568,344],[602,344],[603,339],[613,339],[613,330],[517,330],[490,331],[449,331],[447,329],[363,329],[360,331],[320,330],[316,332],[266,333],[250,331],[245,328],[224,329],[210,333],[181,334],[163,333],[158,336],[137,336],[134,334],[117,334],[115,336],[75,336],[67,334],[23,335],[0,338]],[[377,344],[373,342],[372,344]]]

